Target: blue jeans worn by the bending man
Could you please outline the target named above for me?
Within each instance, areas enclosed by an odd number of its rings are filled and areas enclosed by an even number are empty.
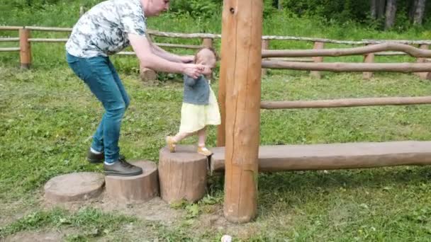
[[[120,154],[118,139],[121,120],[130,103],[123,83],[108,57],[80,58],[67,53],[66,59],[74,74],[89,86],[91,93],[105,109],[91,148],[104,152],[105,162],[117,161]]]

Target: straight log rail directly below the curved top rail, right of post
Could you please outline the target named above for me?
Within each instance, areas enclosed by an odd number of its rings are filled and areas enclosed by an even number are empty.
[[[301,63],[301,62],[277,62],[262,61],[262,68],[267,69],[291,69],[301,71],[388,71],[388,72],[430,72],[431,63]]]

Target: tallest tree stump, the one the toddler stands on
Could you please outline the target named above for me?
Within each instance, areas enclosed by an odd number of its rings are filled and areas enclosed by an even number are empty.
[[[208,158],[194,146],[179,146],[170,153],[167,147],[159,152],[160,194],[168,203],[187,200],[196,202],[205,195]]]

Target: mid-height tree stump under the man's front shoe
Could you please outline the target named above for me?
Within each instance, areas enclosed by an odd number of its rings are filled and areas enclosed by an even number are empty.
[[[146,202],[159,195],[157,165],[152,161],[130,162],[142,168],[142,174],[134,176],[106,175],[106,194],[117,202]]]

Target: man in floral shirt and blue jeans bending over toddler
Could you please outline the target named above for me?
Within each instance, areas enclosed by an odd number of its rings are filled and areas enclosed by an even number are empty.
[[[108,0],[79,19],[66,43],[67,62],[102,103],[105,113],[87,154],[102,163],[106,175],[139,175],[142,169],[120,155],[121,120],[130,103],[128,94],[108,56],[133,47],[143,67],[197,78],[203,66],[153,45],[146,36],[146,18],[169,8],[169,0]]]

